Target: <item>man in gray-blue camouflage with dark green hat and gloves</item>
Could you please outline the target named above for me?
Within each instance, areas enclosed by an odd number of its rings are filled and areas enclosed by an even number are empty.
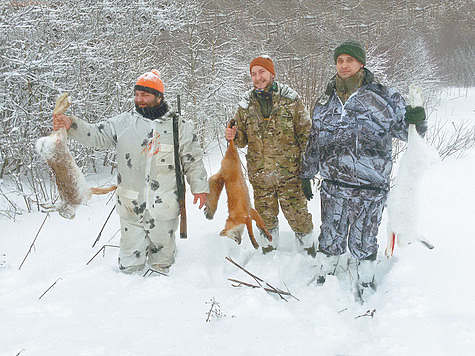
[[[378,229],[390,188],[392,140],[408,139],[409,123],[423,134],[423,108],[406,107],[403,97],[376,83],[366,53],[355,41],[335,49],[337,75],[315,105],[302,158],[302,189],[311,199],[309,179],[322,178],[317,284],[334,274],[349,249],[357,263],[356,294],[366,301],[376,290],[374,270]]]

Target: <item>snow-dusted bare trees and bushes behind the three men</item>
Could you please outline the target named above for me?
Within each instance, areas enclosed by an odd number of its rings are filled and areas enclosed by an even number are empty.
[[[250,88],[252,58],[270,55],[277,80],[310,110],[334,73],[333,49],[355,38],[381,82],[404,95],[410,83],[423,88],[430,118],[443,87],[475,86],[473,10],[471,0],[3,1],[0,181],[11,184],[0,185],[0,214],[14,218],[56,195],[34,143],[51,131],[63,91],[69,113],[96,122],[131,110],[136,78],[156,68],[206,151]],[[427,138],[442,158],[474,145],[473,123],[453,125],[447,136],[431,123]],[[71,148],[84,171],[115,169],[113,152]]]

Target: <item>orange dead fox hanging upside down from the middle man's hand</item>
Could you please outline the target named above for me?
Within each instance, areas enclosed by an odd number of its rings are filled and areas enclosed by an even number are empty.
[[[229,147],[221,161],[221,169],[209,179],[210,193],[206,199],[205,209],[207,219],[214,217],[223,186],[226,188],[226,194],[228,195],[229,217],[226,220],[224,230],[219,235],[227,236],[241,244],[241,235],[244,231],[244,225],[246,225],[251,243],[257,249],[259,244],[252,232],[252,220],[255,220],[257,226],[267,235],[267,239],[272,241],[272,236],[267,231],[262,217],[251,206],[249,190],[242,173],[241,161],[234,141],[229,142]]]

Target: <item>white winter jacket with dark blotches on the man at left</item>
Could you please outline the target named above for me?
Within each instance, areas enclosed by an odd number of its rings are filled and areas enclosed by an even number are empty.
[[[179,215],[173,147],[173,112],[150,120],[136,111],[89,124],[72,117],[68,136],[96,148],[117,151],[117,212],[142,216],[145,209],[160,220]],[[180,160],[191,192],[208,193],[202,151],[193,125],[178,120]]]

